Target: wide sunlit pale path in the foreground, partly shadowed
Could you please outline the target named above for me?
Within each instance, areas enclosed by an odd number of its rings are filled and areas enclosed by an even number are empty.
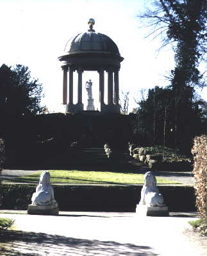
[[[60,212],[60,216],[0,214],[22,232],[1,243],[0,255],[206,256],[206,237],[192,232],[194,216]],[[4,237],[1,237],[4,239]]]

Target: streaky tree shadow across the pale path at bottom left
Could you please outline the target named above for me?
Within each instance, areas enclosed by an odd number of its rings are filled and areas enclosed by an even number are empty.
[[[0,234],[1,255],[38,256],[38,255],[128,255],[156,256],[153,248],[115,241],[77,239],[62,235],[35,232],[6,231]]]

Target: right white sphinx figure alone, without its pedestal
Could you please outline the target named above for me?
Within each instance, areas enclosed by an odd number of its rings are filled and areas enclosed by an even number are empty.
[[[154,173],[148,171],[144,175],[144,186],[141,191],[140,205],[147,205],[153,207],[165,206],[163,195],[159,193],[158,187],[156,186],[156,178]]]

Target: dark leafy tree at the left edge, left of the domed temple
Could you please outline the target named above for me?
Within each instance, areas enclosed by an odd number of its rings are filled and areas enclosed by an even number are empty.
[[[14,69],[3,64],[0,67],[1,115],[28,115],[42,112],[40,99],[42,85],[32,80],[28,67],[16,65]]]

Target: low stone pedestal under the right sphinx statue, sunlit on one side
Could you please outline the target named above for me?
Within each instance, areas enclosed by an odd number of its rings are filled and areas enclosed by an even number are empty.
[[[137,205],[136,213],[138,216],[169,216],[169,210],[167,206],[147,206]]]

